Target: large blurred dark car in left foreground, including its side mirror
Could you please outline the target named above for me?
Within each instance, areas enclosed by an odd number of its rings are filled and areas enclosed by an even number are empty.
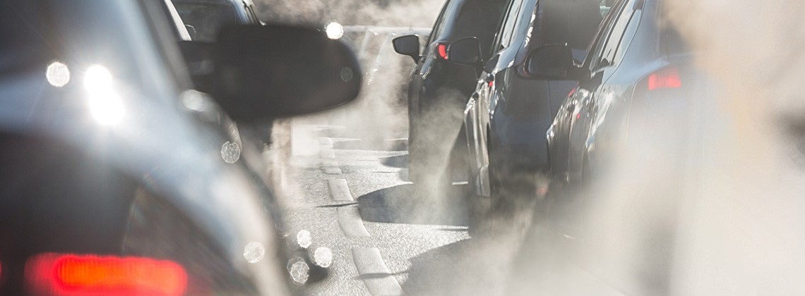
[[[308,280],[222,127],[351,101],[357,60],[298,27],[177,44],[177,19],[167,0],[0,2],[0,294],[283,295]],[[210,53],[213,97],[177,45]]]

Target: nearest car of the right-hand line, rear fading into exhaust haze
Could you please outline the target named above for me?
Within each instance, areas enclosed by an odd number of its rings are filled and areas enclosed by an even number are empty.
[[[686,158],[691,98],[704,97],[711,86],[679,33],[661,21],[662,6],[662,0],[618,1],[582,64],[565,45],[538,47],[526,60],[529,76],[578,81],[546,133],[555,191],[547,202],[556,215],[572,216],[562,213],[592,202],[573,192],[608,178],[626,159],[665,159],[665,179],[681,174],[682,163],[674,159]],[[673,184],[662,191],[679,190]]]

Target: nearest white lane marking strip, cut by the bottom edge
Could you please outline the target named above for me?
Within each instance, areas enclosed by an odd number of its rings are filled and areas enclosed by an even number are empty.
[[[373,295],[402,295],[403,287],[391,275],[377,248],[353,249],[353,261],[357,273]]]

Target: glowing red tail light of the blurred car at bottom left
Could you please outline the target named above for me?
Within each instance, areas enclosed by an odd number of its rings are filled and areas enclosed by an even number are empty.
[[[35,294],[50,295],[181,295],[188,281],[173,261],[56,253],[29,259],[25,277]]]

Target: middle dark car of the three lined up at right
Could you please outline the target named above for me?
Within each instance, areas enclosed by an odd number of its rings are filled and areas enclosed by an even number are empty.
[[[503,188],[515,194],[522,183],[533,183],[535,174],[547,173],[545,132],[576,83],[530,79],[523,64],[530,50],[556,43],[568,44],[573,58],[584,60],[600,12],[599,3],[588,0],[510,3],[493,42],[495,53],[464,109],[469,179],[476,196],[498,197]]]

